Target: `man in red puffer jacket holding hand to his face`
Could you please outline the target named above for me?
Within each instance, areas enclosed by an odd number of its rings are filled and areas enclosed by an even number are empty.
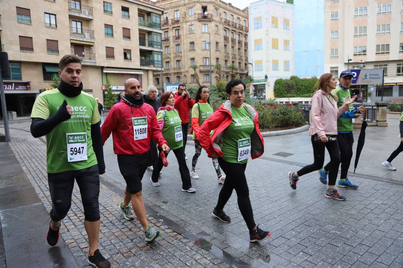
[[[183,136],[183,148],[186,148],[187,142],[187,132],[189,128],[189,118],[190,118],[190,110],[193,105],[195,105],[195,101],[190,97],[189,92],[186,90],[185,84],[180,84],[178,87],[178,91],[175,92],[175,109],[179,112],[179,117],[182,120],[182,136]],[[186,154],[185,159],[187,160]]]

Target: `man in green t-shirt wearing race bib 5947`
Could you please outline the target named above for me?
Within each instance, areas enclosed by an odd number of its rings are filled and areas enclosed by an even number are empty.
[[[36,98],[31,113],[31,134],[46,135],[46,162],[52,209],[46,240],[57,244],[61,220],[71,206],[74,180],[80,188],[84,227],[88,235],[88,262],[110,268],[98,249],[100,232],[99,174],[105,173],[100,114],[96,100],[83,92],[81,60],[65,55],[59,62],[60,84]]]

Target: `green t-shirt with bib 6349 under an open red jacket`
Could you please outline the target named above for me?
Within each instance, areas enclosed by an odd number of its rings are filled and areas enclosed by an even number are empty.
[[[242,144],[247,139],[249,139],[250,145],[250,137],[254,129],[252,116],[245,105],[242,105],[241,108],[232,106],[232,122],[224,130],[219,144],[224,153],[222,159],[230,163],[246,163],[247,159],[238,161],[239,147],[243,146]]]

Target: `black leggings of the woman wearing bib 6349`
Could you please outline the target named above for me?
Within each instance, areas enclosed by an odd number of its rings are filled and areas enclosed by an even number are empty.
[[[222,186],[220,195],[218,196],[218,202],[216,209],[222,210],[231,197],[232,191],[235,189],[238,196],[238,207],[241,211],[243,219],[249,231],[255,228],[255,220],[253,219],[253,211],[251,201],[249,200],[249,188],[246,183],[245,169],[246,163],[230,163],[218,158],[218,163],[222,170],[224,170],[226,177],[224,181],[224,186]]]

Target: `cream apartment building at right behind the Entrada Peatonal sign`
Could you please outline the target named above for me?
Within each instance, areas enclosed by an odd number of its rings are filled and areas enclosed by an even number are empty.
[[[325,1],[325,72],[364,68],[384,70],[384,98],[403,97],[403,1]],[[349,61],[349,59],[351,59]],[[359,94],[359,86],[352,87]],[[381,99],[382,85],[361,85],[364,101]]]

